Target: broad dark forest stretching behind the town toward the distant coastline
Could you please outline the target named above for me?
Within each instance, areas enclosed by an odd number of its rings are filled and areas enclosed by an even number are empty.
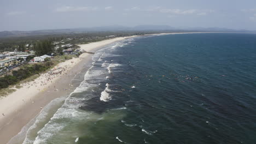
[[[109,35],[115,35],[115,37],[126,37],[130,35],[143,35],[143,34],[152,34],[160,33],[156,31],[150,32],[140,32],[140,31],[117,31],[117,32],[84,32],[84,33],[63,33],[63,34],[54,34],[54,35],[29,35],[23,37],[7,37],[0,38],[0,52],[4,51],[24,51],[25,44],[31,44],[32,46],[28,49],[36,50],[36,45],[38,41],[44,41],[45,39],[50,41],[63,41],[63,44],[85,44],[91,43],[93,41],[100,41],[104,39],[109,39]],[[26,48],[26,47],[25,47]],[[43,52],[44,53],[44,52]]]

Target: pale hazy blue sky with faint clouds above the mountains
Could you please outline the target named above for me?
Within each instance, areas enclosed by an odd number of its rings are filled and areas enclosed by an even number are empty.
[[[256,0],[0,0],[0,31],[169,25],[256,30]]]

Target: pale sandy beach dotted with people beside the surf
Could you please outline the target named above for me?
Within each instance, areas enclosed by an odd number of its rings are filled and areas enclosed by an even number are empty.
[[[104,45],[130,37],[114,38],[95,43],[79,45],[81,50],[96,52]],[[90,53],[83,53],[79,58],[59,63],[36,80],[22,83],[22,88],[0,99],[0,140],[7,143],[17,135],[22,127],[31,121],[51,100],[69,95],[75,86],[71,81],[80,73],[84,65],[91,65]],[[89,67],[88,67],[89,68]]]

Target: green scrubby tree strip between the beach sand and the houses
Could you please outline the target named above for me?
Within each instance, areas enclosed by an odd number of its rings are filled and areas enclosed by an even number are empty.
[[[53,64],[53,62],[45,62],[42,64],[27,65],[19,70],[13,70],[13,75],[5,75],[0,78],[0,88],[7,88],[9,85],[14,85],[27,77],[42,73],[49,69]]]

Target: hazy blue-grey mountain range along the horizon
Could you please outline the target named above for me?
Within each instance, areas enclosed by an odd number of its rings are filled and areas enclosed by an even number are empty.
[[[48,35],[48,34],[72,34],[94,31],[165,31],[165,32],[253,32],[247,30],[234,30],[228,28],[203,28],[203,27],[191,27],[191,28],[175,28],[167,25],[140,25],[135,27],[125,26],[102,26],[102,27],[90,27],[90,28],[71,28],[71,29],[44,29],[38,31],[3,31],[0,32],[0,38],[3,37],[22,37],[30,35]]]

